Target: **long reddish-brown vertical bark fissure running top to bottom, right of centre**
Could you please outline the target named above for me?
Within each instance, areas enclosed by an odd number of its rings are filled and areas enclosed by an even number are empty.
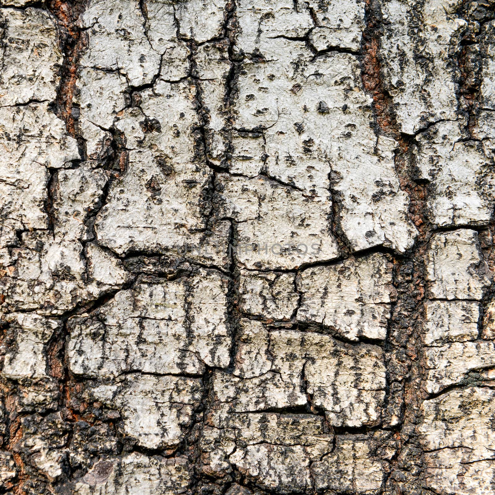
[[[394,152],[400,189],[409,198],[408,217],[418,229],[414,246],[404,256],[394,259],[393,284],[397,291],[391,305],[384,351],[387,356],[387,395],[384,403],[384,427],[398,435],[400,446],[391,460],[391,471],[385,492],[394,493],[405,469],[400,453],[409,452],[412,462],[422,462],[422,450],[414,433],[416,415],[421,403],[421,332],[424,327],[424,287],[427,242],[431,225],[426,217],[427,185],[418,180],[412,154],[414,138],[402,134],[396,121],[391,96],[384,88],[381,70],[380,42],[383,16],[377,0],[365,1],[365,30],[362,38],[361,75],[365,90],[373,98],[372,111],[375,133],[396,140]],[[400,473],[400,474],[398,474]],[[397,478],[395,476],[398,476]],[[407,487],[414,491],[422,484],[422,471],[407,476]],[[404,478],[405,479],[405,478]]]

